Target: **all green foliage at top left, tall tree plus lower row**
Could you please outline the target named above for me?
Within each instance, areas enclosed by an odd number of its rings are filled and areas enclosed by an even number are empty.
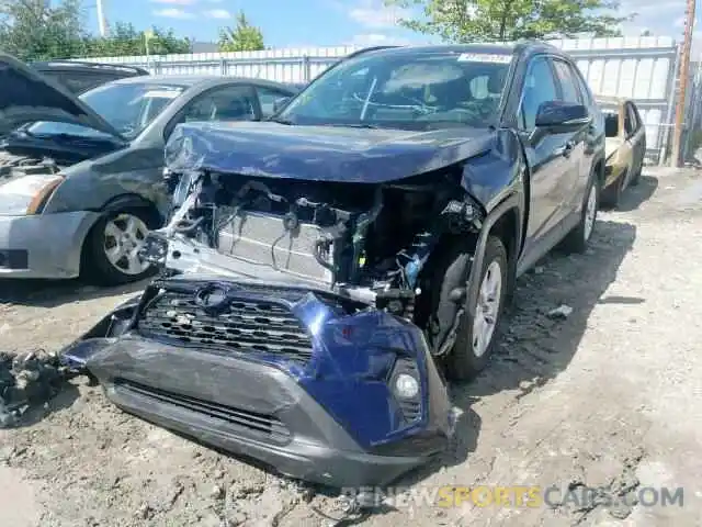
[[[147,38],[148,36],[148,38]],[[42,0],[0,0],[0,49],[22,60],[190,53],[188,38],[172,30],[137,31],[116,23],[107,37],[86,30],[80,0],[46,7]]]

